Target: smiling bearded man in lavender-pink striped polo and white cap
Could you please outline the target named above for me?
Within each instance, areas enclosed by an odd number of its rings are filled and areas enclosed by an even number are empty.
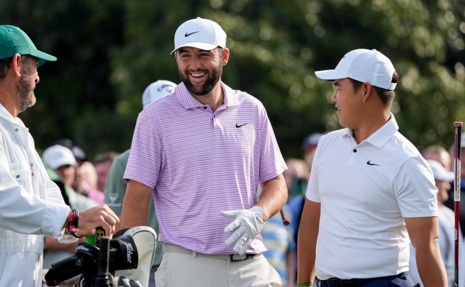
[[[221,81],[230,52],[217,23],[186,21],[172,53],[182,83],[139,115],[122,227],[146,225],[153,197],[164,253],[157,287],[281,286],[259,235],[287,198],[266,111]]]

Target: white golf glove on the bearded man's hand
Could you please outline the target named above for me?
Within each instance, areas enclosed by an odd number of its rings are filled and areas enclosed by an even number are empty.
[[[234,221],[224,228],[224,233],[233,235],[226,240],[226,245],[231,245],[237,240],[233,250],[240,255],[246,254],[250,244],[263,228],[263,209],[254,206],[250,209],[221,211],[221,215],[234,218]]]

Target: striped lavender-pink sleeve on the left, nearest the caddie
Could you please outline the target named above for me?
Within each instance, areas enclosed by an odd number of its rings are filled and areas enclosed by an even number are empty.
[[[159,119],[151,119],[143,113],[139,114],[124,180],[139,181],[150,188],[155,188],[163,154],[161,133],[158,131],[160,124]]]

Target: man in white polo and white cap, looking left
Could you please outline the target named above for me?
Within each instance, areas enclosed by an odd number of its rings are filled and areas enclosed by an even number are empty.
[[[447,287],[437,243],[437,189],[390,107],[399,76],[376,50],[357,49],[335,70],[331,100],[345,129],[322,136],[298,237],[298,279],[319,287],[412,287],[409,237],[425,287]]]

